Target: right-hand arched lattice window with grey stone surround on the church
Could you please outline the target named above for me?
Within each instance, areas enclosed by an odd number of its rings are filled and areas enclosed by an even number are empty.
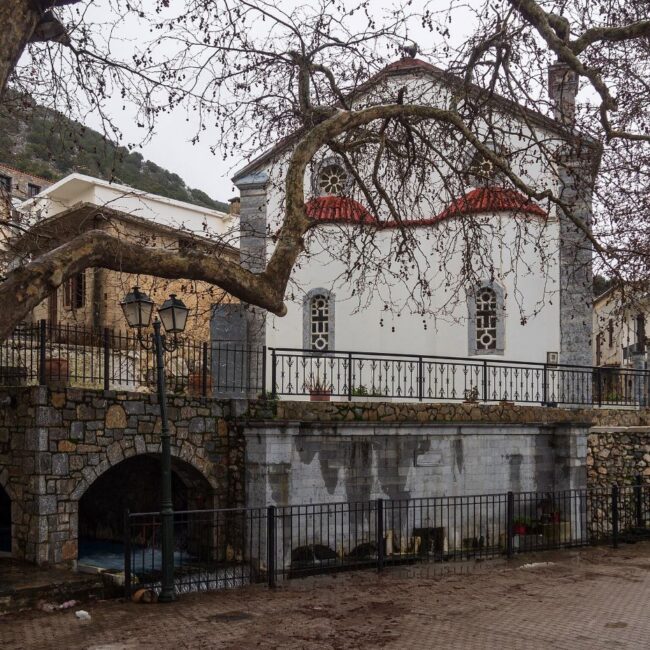
[[[505,304],[503,288],[495,282],[481,284],[468,301],[469,354],[503,354]]]

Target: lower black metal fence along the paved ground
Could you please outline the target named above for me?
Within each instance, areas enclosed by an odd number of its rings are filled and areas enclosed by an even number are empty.
[[[650,536],[650,485],[174,513],[176,591]],[[160,588],[160,515],[127,513],[125,585]]]

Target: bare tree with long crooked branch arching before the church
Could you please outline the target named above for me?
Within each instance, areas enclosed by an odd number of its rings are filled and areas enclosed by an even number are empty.
[[[64,4],[71,6],[55,18],[50,9]],[[455,2],[444,11],[434,3],[417,11],[405,3],[376,16],[367,1],[320,0],[283,11],[265,0],[185,0],[180,9],[166,0],[153,9],[113,0],[119,18],[101,30],[87,19],[90,4],[4,3],[0,16],[11,29],[0,37],[0,87],[8,83],[37,99],[54,98],[66,110],[91,107],[109,127],[107,99],[116,93],[137,103],[145,129],[161,112],[184,108],[196,115],[197,139],[209,138],[216,150],[238,156],[286,140],[289,154],[279,162],[276,181],[284,195],[280,227],[257,273],[214,255],[81,233],[7,274],[0,298],[15,308],[0,314],[0,336],[88,266],[204,280],[284,314],[291,271],[314,224],[305,207],[305,172],[324,147],[345,161],[353,191],[371,213],[394,228],[396,277],[413,278],[406,269],[417,263],[409,218],[436,214],[437,206],[462,195],[473,165],[561,211],[609,275],[648,276],[646,2],[632,9],[622,0],[489,2],[474,11],[476,29],[460,47],[449,35],[456,12],[465,11]],[[117,58],[111,38],[128,19],[146,24],[152,37]],[[408,42],[414,21],[435,34],[437,47],[424,56],[454,74],[440,73],[417,88],[384,83],[381,70]],[[547,69],[556,62],[583,88],[575,114],[562,97],[547,99]],[[440,101],[432,101],[432,93]],[[559,120],[544,122],[540,114],[551,111]],[[540,120],[546,124],[541,129]],[[519,150],[506,150],[513,137],[521,141]],[[556,175],[579,168],[588,179],[585,191],[597,198],[593,223],[553,184],[535,182],[530,169],[540,164]],[[520,223],[522,238],[539,236],[524,219]],[[447,270],[447,281],[460,284],[477,272],[470,262],[488,245],[484,226],[469,219],[449,230],[467,251],[468,264],[460,273]],[[363,241],[359,248],[358,239],[348,240],[347,250],[355,247],[352,264],[372,268],[372,236]],[[424,273],[415,278],[424,299],[431,287]]]

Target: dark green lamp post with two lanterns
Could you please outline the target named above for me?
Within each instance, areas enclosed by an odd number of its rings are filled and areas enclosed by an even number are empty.
[[[147,350],[151,349],[151,342],[143,336],[143,329],[149,327],[154,303],[147,294],[142,293],[138,287],[133,287],[124,300],[120,303],[124,317],[130,327],[138,330],[138,340]],[[153,348],[156,351],[156,377],[158,384],[158,404],[160,405],[160,442],[162,446],[161,458],[161,495],[160,495],[160,529],[162,544],[162,581],[158,602],[169,603],[175,599],[174,595],[174,504],[172,502],[172,455],[167,422],[167,394],[165,387],[165,360],[164,350],[172,351],[178,347],[176,336],[183,332],[187,324],[189,309],[175,294],[171,294],[158,310],[158,318],[153,322]],[[162,321],[165,332],[173,334],[171,341],[160,333]]]

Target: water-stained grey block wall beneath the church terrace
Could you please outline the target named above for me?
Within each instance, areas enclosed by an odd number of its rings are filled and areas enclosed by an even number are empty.
[[[250,423],[247,503],[583,488],[587,432],[539,424]]]

